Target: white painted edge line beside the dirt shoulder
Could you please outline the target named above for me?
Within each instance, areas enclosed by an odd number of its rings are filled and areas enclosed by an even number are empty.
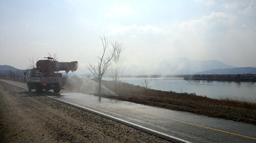
[[[3,80],[1,80],[1,81],[3,81]],[[6,82],[6,81],[3,81],[3,82]],[[18,85],[15,85],[15,84],[12,84],[12,83],[9,83],[9,82],[6,82],[6,83],[14,85],[15,87],[18,87],[18,88],[21,88],[21,89],[28,90],[26,88],[20,87]],[[163,139],[166,139],[166,140],[169,140],[169,141],[172,141],[172,142],[191,143],[190,141],[187,141],[187,140],[184,140],[184,139],[172,136],[172,135],[168,135],[168,134],[165,134],[165,133],[162,133],[162,132],[159,132],[159,131],[156,131],[156,130],[153,130],[153,129],[150,129],[150,128],[147,128],[147,127],[143,127],[143,126],[131,123],[131,122],[127,122],[127,121],[124,121],[122,119],[119,119],[119,118],[116,118],[116,117],[113,117],[113,116],[110,116],[110,115],[106,115],[105,113],[102,113],[102,112],[99,112],[99,111],[96,111],[96,110],[92,110],[92,109],[89,109],[89,108],[86,108],[86,107],[83,107],[83,106],[80,106],[80,105],[76,105],[76,104],[73,104],[73,103],[70,103],[70,102],[67,102],[67,101],[63,101],[63,100],[60,100],[60,99],[56,99],[54,97],[51,97],[51,96],[48,96],[48,95],[45,95],[45,94],[42,94],[42,95],[44,95],[46,97],[49,97],[49,98],[51,98],[53,100],[56,100],[56,101],[59,101],[59,102],[71,105],[73,107],[76,107],[76,108],[79,108],[79,109],[82,109],[82,110],[86,110],[86,111],[89,111],[91,113],[95,113],[96,115],[99,115],[101,117],[104,117],[104,118],[107,118],[107,119],[110,119],[110,120],[122,123],[124,125],[133,127],[135,129],[141,130],[141,131],[146,132],[146,133],[153,134],[155,136],[161,137]]]

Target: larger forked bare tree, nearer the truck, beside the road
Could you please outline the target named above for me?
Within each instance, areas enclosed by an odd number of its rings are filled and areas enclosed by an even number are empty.
[[[90,70],[90,72],[98,79],[99,82],[99,89],[98,89],[98,95],[101,94],[101,80],[102,76],[108,72],[108,68],[111,64],[111,60],[115,54],[115,49],[108,49],[109,41],[108,37],[103,36],[100,37],[102,46],[103,46],[103,53],[102,56],[98,56],[98,64],[93,65],[91,63],[88,64],[87,68]],[[107,53],[109,51],[109,53]]]

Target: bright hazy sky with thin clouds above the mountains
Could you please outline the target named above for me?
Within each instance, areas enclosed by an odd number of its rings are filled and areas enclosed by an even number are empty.
[[[255,67],[256,1],[0,0],[0,65],[27,69],[49,52],[89,73],[103,35],[123,43],[130,70],[179,57]]]

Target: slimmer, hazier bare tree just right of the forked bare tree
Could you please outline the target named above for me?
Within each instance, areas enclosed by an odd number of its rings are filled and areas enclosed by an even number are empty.
[[[111,45],[113,47],[113,49],[115,49],[114,52],[114,56],[113,56],[113,64],[112,64],[112,69],[111,69],[111,73],[110,73],[110,77],[113,80],[114,86],[115,86],[115,93],[117,93],[117,85],[118,82],[121,81],[120,78],[120,66],[121,66],[121,62],[120,62],[120,56],[121,56],[121,52],[123,51],[124,47],[123,47],[123,43],[115,40],[115,41],[111,41]]]

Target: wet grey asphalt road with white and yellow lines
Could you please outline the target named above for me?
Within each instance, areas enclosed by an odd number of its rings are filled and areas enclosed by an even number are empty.
[[[6,82],[27,89],[24,83]],[[256,142],[256,126],[251,124],[69,91],[44,94],[184,142]]]

